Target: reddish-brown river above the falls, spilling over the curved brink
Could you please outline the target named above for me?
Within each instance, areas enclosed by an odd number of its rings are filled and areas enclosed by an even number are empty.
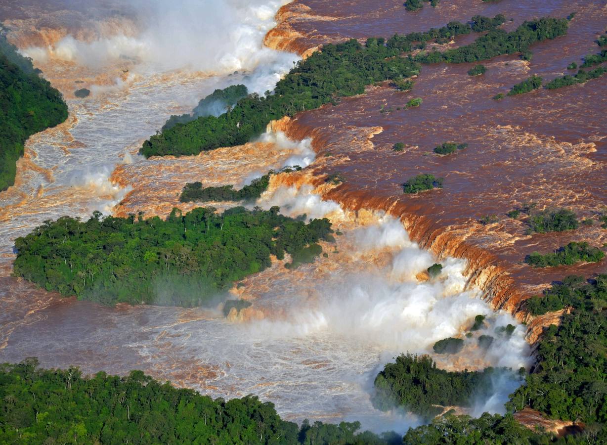
[[[586,240],[599,247],[607,242],[607,229],[600,228],[598,220],[607,204],[607,78],[501,101],[492,97],[532,74],[544,81],[561,76],[568,64],[581,64],[584,55],[599,52],[594,41],[605,30],[603,5],[450,1],[436,8],[426,4],[412,13],[400,2],[337,5],[302,0],[280,10],[278,27],[266,37],[268,44],[305,55],[327,42],[423,31],[476,14],[502,13],[507,20],[514,19],[503,25],[512,30],[524,19],[560,18],[574,11],[568,34],[532,46],[531,62],[518,55],[501,56],[484,62],[487,72],[481,76],[467,75],[473,64],[423,66],[411,92],[398,92],[388,84],[370,87],[365,95],[337,106],[297,115],[288,134],[313,136],[317,151],[330,154],[317,175],[339,171],[345,176],[327,198],[351,209],[385,209],[401,217],[422,246],[469,259],[470,280],[489,291],[496,307],[517,312],[524,298],[552,280],[607,271],[605,260],[557,268],[523,263],[533,251],[548,253],[571,241]],[[473,38],[456,38],[449,47]],[[404,109],[413,97],[422,98],[423,104]],[[452,155],[433,154],[432,149],[445,141],[469,146]],[[392,151],[396,142],[404,143],[405,150]],[[444,188],[404,195],[400,185],[420,173],[443,177]],[[571,208],[578,219],[592,219],[594,225],[527,235],[524,215],[506,216],[526,202],[537,203],[538,210]],[[478,222],[492,215],[497,222]]]

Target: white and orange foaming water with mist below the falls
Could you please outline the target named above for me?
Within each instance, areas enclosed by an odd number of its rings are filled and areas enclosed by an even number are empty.
[[[324,162],[314,160],[310,140],[280,131],[197,157],[137,155],[169,115],[189,111],[215,87],[242,82],[263,93],[297,59],[262,46],[280,2],[208,1],[200,10],[184,1],[178,11],[168,4],[152,2],[145,16],[125,7],[92,18],[53,2],[32,9],[49,28],[26,5],[7,17],[13,41],[66,96],[70,117],[30,138],[16,185],[0,194],[0,361],[38,356],[44,366],[85,372],[142,369],[212,396],[259,395],[294,420],[361,420],[376,430],[416,424],[414,416],[371,406],[381,366],[402,352],[432,352],[438,339],[463,334],[476,314],[488,316],[488,333],[517,322],[482,301],[463,260],[443,259],[441,276],[427,280],[422,272],[437,259],[410,242],[398,220],[344,211],[311,185],[275,182],[258,204],[328,216],[344,235],[313,265],[287,271],[276,264],[246,279],[232,290],[253,301],[240,316],[226,319],[215,307],[100,307],[8,276],[15,238],[46,219],[86,218],[95,209],[165,215],[186,182],[242,184],[270,168]],[[137,2],[130,6],[137,10]],[[72,29],[70,14],[95,26],[84,32],[72,21]],[[162,31],[154,32],[160,18]],[[83,86],[92,96],[73,97]],[[458,355],[435,359],[448,369],[528,364],[522,327],[486,351],[476,347],[478,335]],[[471,412],[502,412],[517,384],[504,375]]]

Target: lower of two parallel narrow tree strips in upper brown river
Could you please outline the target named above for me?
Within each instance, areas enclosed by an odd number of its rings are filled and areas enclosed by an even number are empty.
[[[503,17],[503,16],[502,16]],[[415,61],[419,63],[472,63],[488,60],[504,54],[526,52],[529,47],[546,39],[565,35],[568,22],[565,19],[540,18],[525,21],[516,30],[507,33],[501,29],[490,29],[473,43],[445,52],[419,53]]]

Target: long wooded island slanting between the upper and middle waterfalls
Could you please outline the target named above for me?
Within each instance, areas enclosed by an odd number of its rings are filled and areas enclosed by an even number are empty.
[[[265,131],[271,120],[293,116],[340,97],[364,93],[365,86],[385,80],[415,75],[419,66],[398,56],[378,39],[369,39],[362,47],[356,39],[322,48],[299,61],[276,84],[274,93],[259,97],[248,95],[219,117],[199,117],[176,125],[145,141],[141,153],[152,155],[192,155],[201,151],[248,142]]]

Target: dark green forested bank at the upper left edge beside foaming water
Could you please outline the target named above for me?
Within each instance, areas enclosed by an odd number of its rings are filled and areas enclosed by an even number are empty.
[[[15,183],[16,161],[27,138],[66,119],[61,93],[19,55],[0,28],[0,191]]]

